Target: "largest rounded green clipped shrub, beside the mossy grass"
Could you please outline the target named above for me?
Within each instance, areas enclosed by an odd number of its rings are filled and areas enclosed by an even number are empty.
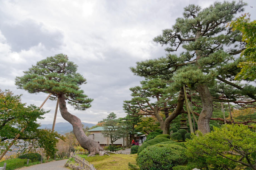
[[[186,163],[185,148],[174,144],[149,146],[136,161],[141,170],[172,170],[173,166]]]

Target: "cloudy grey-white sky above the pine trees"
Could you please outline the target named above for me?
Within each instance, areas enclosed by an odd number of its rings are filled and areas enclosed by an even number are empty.
[[[221,0],[220,0],[221,1]],[[78,65],[87,79],[82,86],[92,107],[69,111],[82,122],[97,123],[110,112],[118,117],[130,87],[141,77],[129,70],[136,61],[165,55],[164,47],[152,42],[161,30],[170,28],[183,7],[207,7],[214,0],[1,0],[0,1],[0,88],[23,94],[22,102],[40,106],[47,94],[28,94],[17,89],[22,76],[37,61],[63,53]],[[256,1],[247,0],[245,12],[256,19]],[[253,8],[251,8],[252,6]],[[53,122],[56,101],[43,106],[51,110],[42,124]],[[58,111],[56,122],[66,122]]]

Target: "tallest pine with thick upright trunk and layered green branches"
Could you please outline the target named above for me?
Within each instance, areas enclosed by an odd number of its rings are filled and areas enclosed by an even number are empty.
[[[154,38],[161,45],[170,45],[166,48],[167,56],[137,62],[136,68],[131,68],[139,76],[171,79],[177,88],[183,84],[195,88],[203,105],[198,120],[198,130],[203,134],[210,132],[213,112],[209,87],[215,85],[215,79],[224,82],[240,70],[237,64],[242,59],[235,59],[234,55],[241,53],[245,43],[241,43],[239,31],[232,32],[226,25],[245,5],[242,1],[224,1],[205,9],[193,4],[185,7],[183,17],[176,19],[172,29],[165,29]],[[179,47],[183,52],[171,54]]]

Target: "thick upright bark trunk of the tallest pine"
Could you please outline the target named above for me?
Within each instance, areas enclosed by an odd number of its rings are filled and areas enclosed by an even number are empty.
[[[198,118],[198,130],[203,134],[210,132],[210,119],[213,112],[213,98],[206,84],[197,85],[202,100],[203,109]]]

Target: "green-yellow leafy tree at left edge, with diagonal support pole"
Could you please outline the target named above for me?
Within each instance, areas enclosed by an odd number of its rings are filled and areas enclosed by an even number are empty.
[[[14,95],[11,91],[0,89],[0,153],[2,153],[11,143],[12,139],[20,133],[19,139],[23,143],[24,152],[35,151],[36,148],[44,148],[44,152],[51,157],[56,153],[55,144],[57,138],[62,138],[57,132],[49,129],[38,129],[37,119],[43,119],[47,113],[35,105],[26,105],[21,102],[21,95]],[[19,145],[19,140],[14,143]],[[28,145],[29,144],[29,145]]]

